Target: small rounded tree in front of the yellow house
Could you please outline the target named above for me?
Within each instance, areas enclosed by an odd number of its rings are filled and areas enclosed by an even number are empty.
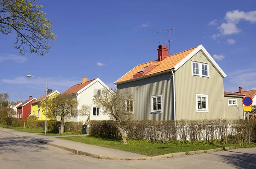
[[[40,105],[45,112],[47,102],[47,117],[60,118],[61,133],[64,132],[64,122],[71,117],[76,117],[79,113],[77,111],[78,101],[73,95],[61,94],[55,98],[45,99],[41,101]]]

